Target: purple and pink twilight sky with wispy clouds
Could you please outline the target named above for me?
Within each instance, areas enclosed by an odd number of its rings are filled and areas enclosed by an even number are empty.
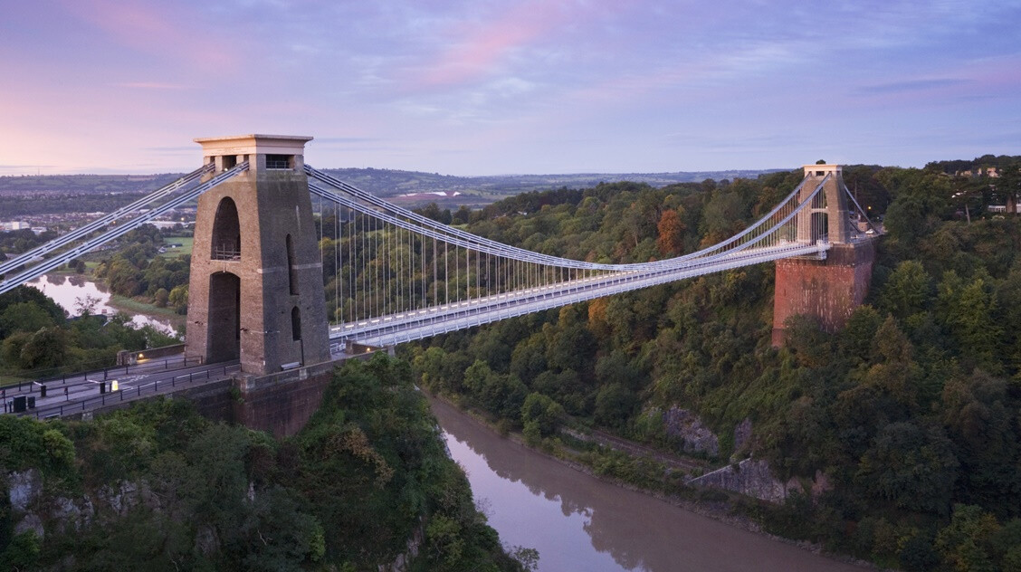
[[[252,133],[460,176],[1021,154],[1021,0],[0,0],[0,176]]]

